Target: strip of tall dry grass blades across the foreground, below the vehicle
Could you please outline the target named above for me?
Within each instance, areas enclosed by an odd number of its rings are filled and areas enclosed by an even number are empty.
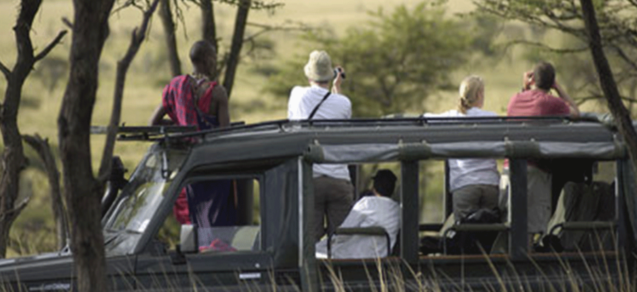
[[[614,232],[590,232],[587,240],[597,245],[594,252],[585,252],[578,248],[577,252],[561,254],[557,252],[544,254],[529,254],[521,262],[512,262],[502,257],[490,257],[483,251],[481,267],[484,273],[476,276],[470,265],[464,259],[457,262],[437,262],[441,257],[431,256],[428,263],[421,259],[418,266],[410,266],[401,260],[392,258],[377,258],[369,260],[331,261],[318,260],[318,279],[320,291],[374,291],[374,292],[403,292],[403,291],[574,291],[574,292],[631,292],[636,291],[635,254],[624,254],[616,242]],[[606,244],[606,245],[604,245]],[[610,246],[609,246],[610,245]],[[606,247],[606,249],[604,249]],[[544,259],[538,260],[542,256]],[[548,259],[547,259],[548,258]],[[157,257],[158,262],[166,260]],[[343,275],[343,267],[360,264],[366,277],[357,280],[348,279]],[[550,263],[550,264],[547,264]],[[222,265],[211,258],[210,265]],[[446,274],[443,265],[457,266],[459,274]],[[161,271],[143,276],[149,287],[144,287],[142,279],[127,274],[127,271],[117,272],[117,276],[109,281],[114,291],[302,291],[299,279],[294,273],[282,274],[278,271],[254,272],[236,271],[232,273],[197,274],[187,264],[160,265]],[[176,270],[183,268],[187,272],[177,274]],[[115,268],[117,269],[117,268]],[[129,269],[134,269],[130,266]],[[139,269],[139,267],[138,267]],[[475,269],[475,268],[474,268]],[[289,271],[289,269],[287,269]],[[142,271],[143,274],[143,271]],[[220,278],[226,276],[223,281]],[[258,274],[258,278],[243,278],[241,275]],[[478,273],[479,274],[479,273]],[[16,279],[21,281],[16,272]],[[229,278],[227,276],[230,276]],[[234,278],[236,281],[232,281]],[[366,278],[366,279],[365,279]],[[47,279],[42,286],[35,283],[22,283],[18,288],[12,288],[8,279],[0,279],[0,292],[21,291],[69,291],[73,287],[64,279]],[[115,283],[117,281],[118,283]],[[231,284],[223,284],[231,283]],[[235,284],[236,283],[236,284]]]

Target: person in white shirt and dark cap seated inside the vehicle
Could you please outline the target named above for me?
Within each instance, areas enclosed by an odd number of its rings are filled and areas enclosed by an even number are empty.
[[[400,228],[401,207],[391,199],[396,186],[396,176],[389,169],[381,169],[374,176],[374,195],[362,197],[345,218],[342,228],[381,227],[389,234],[390,245],[396,245]],[[386,257],[387,240],[384,236],[334,235],[333,259],[370,259]],[[327,257],[327,238],[316,243],[316,257]]]

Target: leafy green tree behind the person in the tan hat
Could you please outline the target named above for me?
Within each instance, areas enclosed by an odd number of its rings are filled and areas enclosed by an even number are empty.
[[[353,116],[422,113],[427,96],[449,86],[450,74],[469,60],[474,42],[464,23],[445,16],[444,4],[401,5],[391,13],[379,9],[369,12],[371,21],[340,37],[329,30],[306,36],[312,50],[326,50],[333,64],[345,68],[342,88],[352,100]],[[287,98],[292,86],[307,84],[306,58],[280,67],[265,90]]]

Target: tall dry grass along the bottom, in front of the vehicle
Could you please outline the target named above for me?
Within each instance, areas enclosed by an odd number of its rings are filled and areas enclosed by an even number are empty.
[[[376,259],[372,268],[365,266],[367,282],[353,282],[345,279],[340,271],[339,264],[331,261],[319,261],[323,266],[319,273],[319,283],[321,291],[374,291],[374,292],[403,292],[403,291],[595,291],[595,292],[631,292],[636,291],[635,273],[628,265],[627,258],[615,252],[612,257],[607,258],[608,253],[596,252],[594,259],[587,259],[585,253],[579,252],[580,259],[577,261],[567,260],[560,254],[553,254],[556,259],[556,269],[544,271],[540,265],[529,257],[529,262],[536,267],[536,274],[522,274],[516,269],[514,262],[507,261],[503,268],[500,263],[496,265],[490,257],[483,255],[484,260],[490,266],[491,276],[482,279],[469,279],[464,275],[458,278],[444,274],[437,269],[434,264],[422,267],[420,270],[412,269],[408,264],[398,261],[387,261]],[[631,255],[633,257],[633,255]],[[435,258],[435,257],[432,257]],[[612,266],[614,262],[616,266]],[[603,263],[599,265],[599,263]],[[214,263],[211,263],[214,264]],[[574,266],[581,264],[587,271],[578,274]],[[459,263],[464,271],[464,263]],[[581,271],[581,269],[579,269]],[[324,274],[321,274],[324,273]],[[241,273],[236,272],[237,286],[209,286],[210,279],[201,278],[189,269],[188,275],[175,277],[172,271],[162,271],[159,274],[152,274],[151,286],[141,287],[134,284],[134,276],[126,276],[121,272],[120,285],[117,291],[255,291],[255,292],[277,292],[277,291],[302,291],[299,287],[298,279],[289,276],[276,276],[274,271],[263,273],[263,281],[240,280]],[[16,275],[17,276],[17,275]],[[210,275],[207,275],[210,277]],[[188,279],[188,287],[183,287],[183,280]],[[0,279],[0,292],[21,292],[21,291],[44,291],[37,287],[26,286],[11,288],[6,286],[6,279]],[[123,280],[123,281],[121,281]],[[214,279],[213,279],[214,280]],[[64,281],[54,281],[64,282]],[[214,281],[213,281],[214,282]],[[205,283],[208,283],[205,284]],[[46,291],[68,291],[69,286],[42,286]],[[35,289],[35,290],[34,290]],[[72,289],[71,289],[72,290]]]

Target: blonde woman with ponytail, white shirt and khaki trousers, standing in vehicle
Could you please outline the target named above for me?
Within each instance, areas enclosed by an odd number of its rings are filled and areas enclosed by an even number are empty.
[[[458,108],[425,117],[497,116],[484,111],[484,82],[472,75],[462,80]],[[498,206],[500,172],[495,159],[449,159],[449,191],[452,192],[454,219],[461,220],[481,208]]]

